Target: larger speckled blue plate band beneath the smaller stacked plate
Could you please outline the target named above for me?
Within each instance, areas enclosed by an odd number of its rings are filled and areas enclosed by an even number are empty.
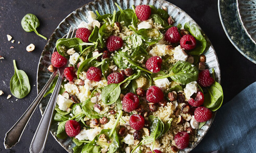
[[[256,63],[256,45],[240,22],[237,0],[218,0],[218,9],[222,27],[230,42],[242,55]]]

